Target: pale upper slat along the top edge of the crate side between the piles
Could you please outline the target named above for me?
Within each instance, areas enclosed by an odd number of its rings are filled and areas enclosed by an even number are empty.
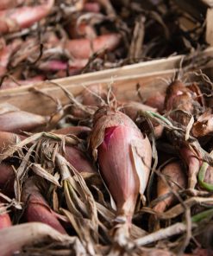
[[[207,48],[204,51],[204,55],[213,56],[213,48]],[[184,55],[178,55],[160,60],[146,61],[134,65],[127,65],[124,67],[117,67],[108,70],[98,71],[89,74],[80,74],[63,79],[53,80],[54,82],[60,83],[62,86],[69,86],[71,84],[84,84],[88,85],[91,83],[98,82],[110,82],[110,80],[121,80],[122,77],[131,77],[132,75],[147,75],[153,72],[160,72],[165,70],[172,70],[179,68],[179,63],[183,59]],[[35,84],[38,88],[53,87],[46,81]],[[28,92],[30,88],[35,85],[21,86],[13,89],[0,90],[0,98],[4,95],[14,95],[16,93]]]

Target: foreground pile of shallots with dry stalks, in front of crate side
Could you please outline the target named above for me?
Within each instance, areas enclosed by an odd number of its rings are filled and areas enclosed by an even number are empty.
[[[1,105],[1,255],[212,255],[212,83],[197,77],[143,102],[60,86],[51,116]]]

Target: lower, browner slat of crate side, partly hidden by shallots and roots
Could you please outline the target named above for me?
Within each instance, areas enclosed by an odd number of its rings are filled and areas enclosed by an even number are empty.
[[[119,94],[119,99],[135,99],[136,97],[136,85],[141,85],[141,91],[144,93],[144,97],[152,93],[156,88],[160,91],[164,90],[166,87],[166,81],[162,80],[169,79],[173,76],[174,71],[168,70],[158,73],[150,73],[146,75],[136,75],[131,78],[125,77],[120,80],[116,80],[113,83],[113,87],[116,88],[116,93]],[[96,83],[96,82],[95,82]],[[90,84],[93,84],[91,82]],[[108,82],[101,82],[103,86],[107,86]],[[80,84],[70,84],[66,85],[66,89],[72,92],[73,95],[78,95],[82,90],[85,89],[84,85]],[[43,87],[41,91],[52,95],[57,99],[60,99],[61,103],[66,104],[68,99],[65,93],[58,86]],[[28,112],[34,112],[38,114],[50,114],[55,109],[55,104],[51,99],[41,94],[36,94],[29,91],[16,91],[16,93],[4,94],[0,97],[0,103],[7,102],[14,106],[19,107],[22,110]]]

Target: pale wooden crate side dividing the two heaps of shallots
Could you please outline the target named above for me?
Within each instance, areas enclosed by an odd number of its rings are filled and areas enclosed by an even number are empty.
[[[211,58],[211,56],[213,60],[213,48],[206,49],[203,58]],[[141,62],[96,73],[81,74],[59,80],[44,81],[31,86],[2,90],[0,91],[0,103],[7,102],[28,112],[42,115],[50,114],[55,109],[53,100],[47,98],[47,96],[34,93],[33,89],[36,88],[43,93],[52,95],[65,104],[68,99],[55,83],[64,86],[74,96],[81,93],[85,86],[97,83],[107,86],[111,83],[116,88],[119,99],[135,99],[135,88],[139,84],[141,93],[146,98],[156,90],[160,92],[165,90],[166,80],[171,80],[174,77],[183,57],[178,55],[157,61]],[[213,61],[205,66],[204,72],[213,78]]]

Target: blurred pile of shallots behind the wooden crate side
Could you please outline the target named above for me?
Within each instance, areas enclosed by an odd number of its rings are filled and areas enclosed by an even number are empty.
[[[189,12],[179,6],[174,0],[1,0],[0,89],[206,48],[206,3]]]

